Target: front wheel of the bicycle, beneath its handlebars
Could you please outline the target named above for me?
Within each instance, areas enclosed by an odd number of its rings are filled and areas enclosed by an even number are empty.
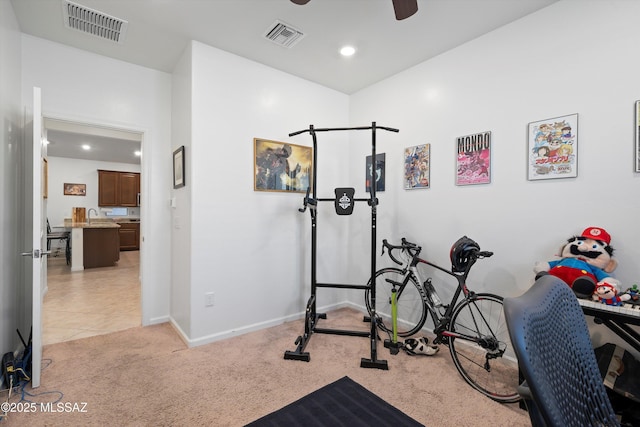
[[[393,323],[391,319],[391,290],[395,285],[397,290],[398,309],[398,335],[408,337],[418,332],[427,319],[427,310],[422,299],[418,282],[411,275],[404,288],[401,285],[406,274],[399,268],[383,268],[376,272],[376,315],[379,316],[380,328],[392,333]],[[369,315],[372,315],[371,303],[371,279],[367,283],[368,288],[364,293],[365,304]]]

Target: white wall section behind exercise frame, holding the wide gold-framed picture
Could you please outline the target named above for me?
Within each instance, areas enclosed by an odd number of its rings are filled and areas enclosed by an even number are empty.
[[[304,311],[310,293],[309,214],[298,212],[303,194],[253,191],[253,138],[309,146],[308,134],[288,134],[310,124],[345,126],[349,99],[201,43],[192,44],[191,55],[189,339],[200,344]],[[346,177],[347,160],[341,155],[346,135],[322,139],[328,147],[320,154],[324,163],[319,169],[329,181]],[[325,188],[324,197],[332,188]],[[179,209],[174,220],[177,215]],[[334,243],[330,234],[341,227],[334,214],[322,233]],[[320,247],[327,249],[326,243]],[[321,280],[336,280],[347,269],[346,249],[341,244],[324,251]],[[176,260],[173,266],[180,268]],[[205,307],[206,292],[215,293],[214,307]],[[327,290],[319,304],[341,300]]]

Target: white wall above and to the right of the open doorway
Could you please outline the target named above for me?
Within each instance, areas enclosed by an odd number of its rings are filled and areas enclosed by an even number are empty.
[[[142,322],[168,320],[171,76],[23,35],[23,99],[32,86],[42,88],[43,114],[47,117],[144,134]]]

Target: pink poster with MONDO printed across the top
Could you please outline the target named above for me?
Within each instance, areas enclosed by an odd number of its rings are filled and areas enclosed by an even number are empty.
[[[456,139],[456,185],[491,182],[491,132]]]

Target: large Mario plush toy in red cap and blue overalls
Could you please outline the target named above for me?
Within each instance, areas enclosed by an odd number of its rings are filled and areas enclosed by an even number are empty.
[[[560,259],[539,261],[533,268],[536,279],[551,274],[562,279],[578,298],[589,298],[598,283],[619,286],[610,276],[618,262],[613,259],[611,236],[604,229],[589,227],[580,236],[573,236],[560,248]]]

